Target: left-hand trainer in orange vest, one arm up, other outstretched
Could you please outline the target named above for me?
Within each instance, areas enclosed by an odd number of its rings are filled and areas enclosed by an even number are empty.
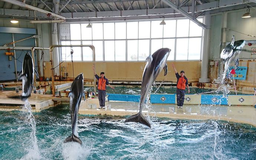
[[[92,70],[96,79],[98,79],[98,99],[99,99],[99,108],[105,109],[105,96],[106,96],[106,85],[114,89],[115,87],[111,86],[108,82],[108,79],[105,77],[105,73],[101,72],[101,76],[98,76],[95,72],[94,65],[92,65]]]

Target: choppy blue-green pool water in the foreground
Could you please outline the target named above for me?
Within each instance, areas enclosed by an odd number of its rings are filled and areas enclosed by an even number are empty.
[[[256,127],[221,120],[151,118],[152,128],[125,118],[79,115],[82,146],[63,141],[71,134],[68,106],[33,113],[39,152],[20,111],[0,111],[0,159],[42,160],[255,160]]]

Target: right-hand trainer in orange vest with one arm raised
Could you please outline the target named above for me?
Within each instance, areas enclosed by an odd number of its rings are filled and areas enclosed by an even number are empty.
[[[184,71],[180,71],[180,75],[179,75],[176,71],[174,64],[172,64],[172,66],[175,71],[175,75],[177,77],[177,90],[176,90],[177,105],[178,105],[177,108],[183,108],[186,86],[188,88],[188,93],[190,93],[190,90],[188,87],[188,79],[186,76],[184,76],[185,74]]]

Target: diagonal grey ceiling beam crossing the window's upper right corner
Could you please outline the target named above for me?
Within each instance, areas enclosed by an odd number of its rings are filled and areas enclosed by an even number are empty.
[[[165,4],[167,4],[168,6],[172,7],[175,11],[178,11],[180,14],[187,17],[189,20],[193,21],[194,23],[196,23],[200,27],[202,27],[203,29],[207,29],[207,26],[205,24],[201,23],[196,18],[192,17],[190,14],[187,13],[187,11],[184,11],[183,9],[181,9],[179,6],[177,6],[176,4],[171,2],[170,0],[162,0],[162,1]]]

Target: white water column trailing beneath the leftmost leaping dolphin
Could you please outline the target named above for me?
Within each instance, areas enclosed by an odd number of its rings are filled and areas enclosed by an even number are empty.
[[[27,148],[28,154],[24,156],[22,160],[39,160],[41,159],[41,156],[37,145],[36,121],[34,115],[31,112],[31,106],[28,100],[26,100],[25,105],[23,106],[23,115],[26,119],[25,122],[27,125],[31,126],[32,132],[30,133],[31,145]]]

